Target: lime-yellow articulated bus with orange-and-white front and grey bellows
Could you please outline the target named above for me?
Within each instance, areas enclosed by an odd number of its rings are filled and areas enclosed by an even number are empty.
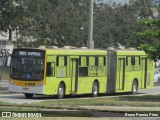
[[[154,62],[143,51],[90,49],[13,50],[12,92],[65,95],[132,92],[153,87]]]

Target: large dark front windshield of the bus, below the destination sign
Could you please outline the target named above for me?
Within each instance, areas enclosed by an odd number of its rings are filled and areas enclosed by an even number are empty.
[[[18,80],[43,80],[44,58],[12,57],[10,76]]]

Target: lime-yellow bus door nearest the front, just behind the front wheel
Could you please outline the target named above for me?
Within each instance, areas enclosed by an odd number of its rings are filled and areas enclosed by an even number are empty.
[[[78,84],[78,59],[71,58],[71,92],[77,91]]]

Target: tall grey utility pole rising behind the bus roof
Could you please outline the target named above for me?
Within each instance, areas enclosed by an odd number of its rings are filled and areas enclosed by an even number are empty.
[[[89,7],[89,29],[88,29],[88,48],[94,48],[94,41],[93,41],[93,0],[90,0],[90,7]]]

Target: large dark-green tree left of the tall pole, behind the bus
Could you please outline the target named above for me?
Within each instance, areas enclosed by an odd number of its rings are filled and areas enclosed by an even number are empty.
[[[19,31],[22,44],[82,46],[82,34],[85,38],[88,27],[88,1],[26,0],[25,5],[28,22]]]

